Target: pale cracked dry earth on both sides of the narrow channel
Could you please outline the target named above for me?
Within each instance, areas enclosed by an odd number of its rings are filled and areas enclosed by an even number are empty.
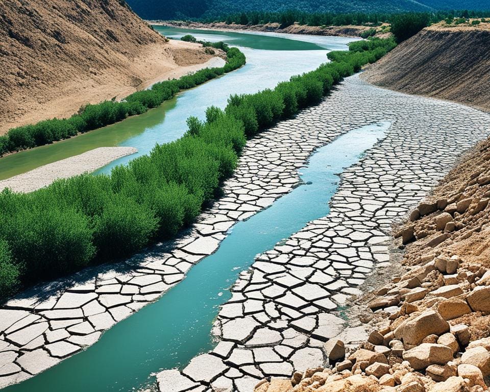
[[[319,146],[391,121],[384,140],[342,174],[331,213],[258,256],[215,322],[215,350],[180,372],[158,374],[168,392],[250,392],[263,377],[324,363],[323,342],[344,320],[331,314],[378,263],[390,227],[423,199],[457,157],[490,134],[490,115],[347,78],[322,104],[250,140],[224,197],[175,243],[125,263],[87,269],[23,293],[0,309],[0,387],[92,345],[104,330],[155,301],[216,250],[227,230],[298,183]]]

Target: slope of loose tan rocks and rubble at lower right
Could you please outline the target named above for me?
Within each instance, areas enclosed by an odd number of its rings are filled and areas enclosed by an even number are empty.
[[[262,381],[255,392],[479,392],[490,385],[490,139],[396,228],[404,274],[358,301],[372,332],[333,369]],[[378,275],[379,276],[379,275]]]

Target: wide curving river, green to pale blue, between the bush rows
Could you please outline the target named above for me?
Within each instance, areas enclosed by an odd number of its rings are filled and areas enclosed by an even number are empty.
[[[188,30],[155,27],[162,34],[180,38]],[[185,120],[191,116],[204,118],[208,106],[226,106],[233,93],[251,93],[271,88],[277,83],[301,74],[327,60],[329,50],[347,49],[350,38],[302,37],[277,34],[243,34],[198,31],[199,39],[225,41],[240,46],[247,64],[197,88],[180,93],[175,99],[137,117],[86,134],[23,151],[0,159],[0,180],[25,173],[60,159],[82,154],[101,146],[133,146],[138,154],[119,159],[101,171],[108,172],[115,164],[127,163],[137,155],[147,154],[155,143],[181,137],[186,131]],[[280,64],[280,66],[278,66]]]

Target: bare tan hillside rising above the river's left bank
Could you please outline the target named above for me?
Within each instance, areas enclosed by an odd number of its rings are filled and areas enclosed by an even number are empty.
[[[210,58],[199,45],[165,42],[124,0],[0,2],[0,134]]]

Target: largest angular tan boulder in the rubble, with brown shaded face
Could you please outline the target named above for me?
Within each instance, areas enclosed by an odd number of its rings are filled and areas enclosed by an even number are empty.
[[[402,328],[400,336],[403,343],[410,346],[418,345],[428,335],[442,335],[449,332],[448,322],[443,320],[440,314],[434,310],[425,311],[418,317],[408,320],[399,328]],[[397,330],[395,335],[397,335]]]

